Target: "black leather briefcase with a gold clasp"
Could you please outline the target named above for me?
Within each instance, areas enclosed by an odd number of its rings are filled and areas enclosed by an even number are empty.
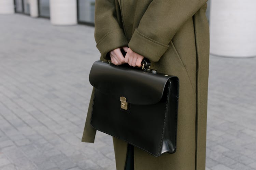
[[[90,124],[154,156],[176,151],[179,79],[157,73],[150,62],[137,68],[96,61]]]

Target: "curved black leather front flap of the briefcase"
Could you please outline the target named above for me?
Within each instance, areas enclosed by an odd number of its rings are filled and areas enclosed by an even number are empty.
[[[89,74],[90,84],[118,101],[124,96],[128,103],[150,105],[161,100],[167,81],[175,77],[162,73],[155,76],[141,68],[130,67],[128,64],[115,66],[96,61]]]

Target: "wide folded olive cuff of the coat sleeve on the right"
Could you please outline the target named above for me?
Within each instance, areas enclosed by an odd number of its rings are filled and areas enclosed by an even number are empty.
[[[143,35],[137,30],[137,28],[135,29],[128,46],[132,51],[153,62],[157,62],[163,53],[165,53],[169,48],[169,45],[159,43],[158,41]]]

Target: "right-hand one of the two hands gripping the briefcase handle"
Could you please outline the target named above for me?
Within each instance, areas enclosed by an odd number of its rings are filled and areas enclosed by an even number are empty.
[[[126,49],[124,49],[126,50]],[[128,63],[130,66],[133,66],[133,67],[141,67],[141,62],[143,60],[143,56],[136,53],[136,52],[133,52],[130,48],[127,49],[126,51],[126,55],[125,55],[125,60],[124,62],[125,63]]]

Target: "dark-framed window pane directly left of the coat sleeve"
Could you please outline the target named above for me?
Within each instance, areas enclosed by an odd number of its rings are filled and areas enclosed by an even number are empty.
[[[94,23],[95,0],[77,0],[79,22]]]

